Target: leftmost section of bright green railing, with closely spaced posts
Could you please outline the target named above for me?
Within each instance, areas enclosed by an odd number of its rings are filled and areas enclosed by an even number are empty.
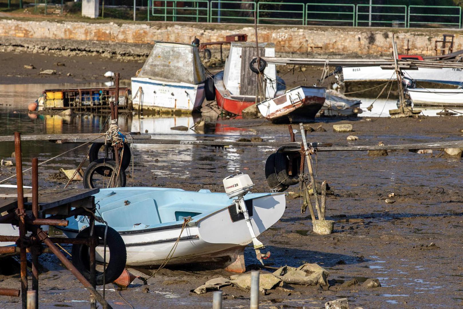
[[[181,2],[182,6],[178,6]],[[161,6],[156,6],[161,4]],[[151,6],[151,9],[150,9]],[[151,14],[150,14],[151,13]],[[209,1],[207,0],[148,0],[148,21],[160,17],[164,21],[209,22]]]

